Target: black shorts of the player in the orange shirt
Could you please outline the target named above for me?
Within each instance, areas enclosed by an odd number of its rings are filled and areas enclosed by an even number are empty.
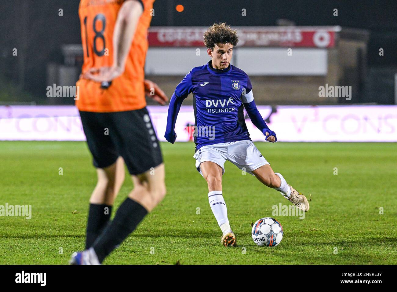
[[[141,174],[163,162],[156,132],[145,108],[126,112],[80,112],[96,168],[123,157],[130,174]]]

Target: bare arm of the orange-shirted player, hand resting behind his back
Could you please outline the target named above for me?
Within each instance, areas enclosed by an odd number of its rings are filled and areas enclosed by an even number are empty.
[[[97,82],[112,81],[124,72],[125,61],[142,12],[142,4],[137,0],[127,0],[121,5],[113,31],[112,67],[89,70],[84,77]]]

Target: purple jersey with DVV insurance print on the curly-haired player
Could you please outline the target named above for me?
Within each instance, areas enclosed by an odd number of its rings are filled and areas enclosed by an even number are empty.
[[[253,101],[252,85],[243,70],[233,65],[214,69],[211,61],[195,67],[175,89],[181,99],[189,93],[193,93],[196,150],[204,145],[251,140],[243,103]]]

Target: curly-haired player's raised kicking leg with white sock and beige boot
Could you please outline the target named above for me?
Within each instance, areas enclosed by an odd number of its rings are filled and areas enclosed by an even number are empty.
[[[269,164],[260,166],[256,170],[252,171],[252,174],[254,174],[254,176],[265,186],[280,191],[285,198],[291,201],[299,209],[305,212],[309,211],[310,206],[306,197],[287,184],[281,174],[274,173]]]

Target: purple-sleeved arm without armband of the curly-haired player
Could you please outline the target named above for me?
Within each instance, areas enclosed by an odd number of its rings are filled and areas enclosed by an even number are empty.
[[[175,124],[183,100],[192,92],[191,72],[187,73],[181,83],[175,88],[168,106],[167,127],[164,138],[170,143],[176,140]]]

